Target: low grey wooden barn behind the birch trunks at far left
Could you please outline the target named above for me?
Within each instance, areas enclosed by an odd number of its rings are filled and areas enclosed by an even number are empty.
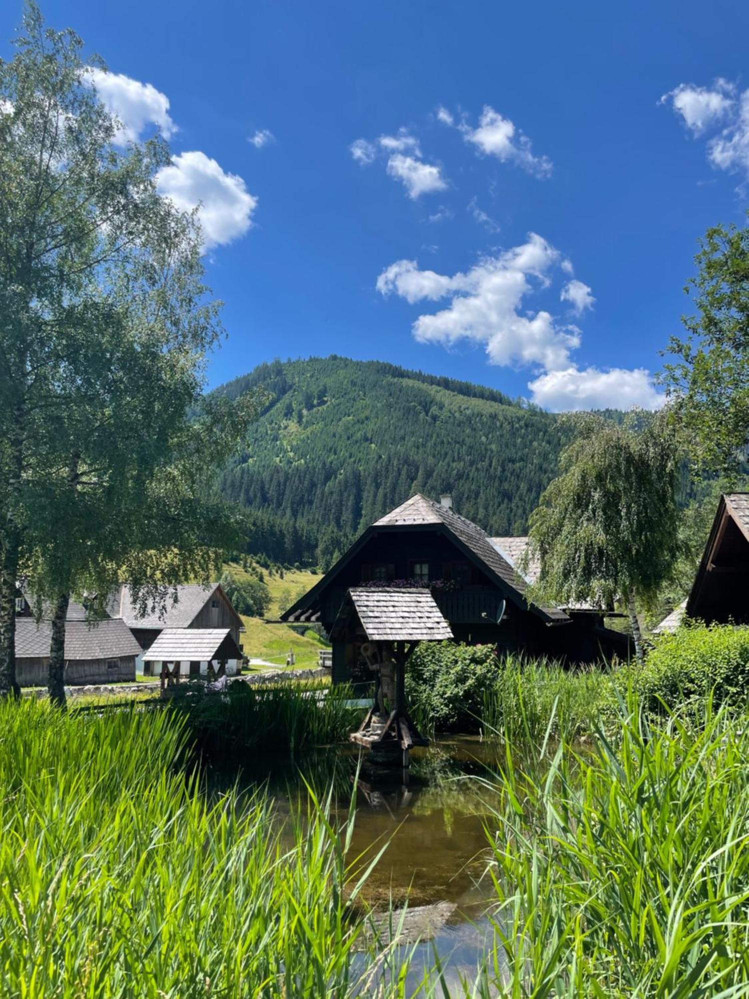
[[[37,620],[22,595],[16,599],[16,678],[21,686],[45,686],[52,621]],[[71,601],[65,623],[65,682],[115,683],[135,680],[141,646],[122,620],[87,620],[86,608]]]

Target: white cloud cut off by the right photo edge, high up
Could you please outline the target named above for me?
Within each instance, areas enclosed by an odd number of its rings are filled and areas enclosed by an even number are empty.
[[[707,143],[711,166],[749,180],[749,89],[738,93],[736,85],[722,77],[711,87],[680,83],[659,103],[669,104],[694,136],[715,133]]]

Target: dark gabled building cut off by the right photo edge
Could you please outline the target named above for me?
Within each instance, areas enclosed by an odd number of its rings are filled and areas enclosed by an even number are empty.
[[[749,623],[749,493],[725,493],[686,600],[654,629],[675,631],[685,618]]]

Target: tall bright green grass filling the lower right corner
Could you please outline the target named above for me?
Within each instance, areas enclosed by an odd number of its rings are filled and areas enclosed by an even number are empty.
[[[746,719],[629,708],[616,748],[560,745],[539,778],[507,744],[482,995],[749,995]]]

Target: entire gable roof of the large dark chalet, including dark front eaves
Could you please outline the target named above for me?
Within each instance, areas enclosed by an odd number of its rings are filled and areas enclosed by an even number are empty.
[[[484,572],[493,576],[502,589],[515,603],[528,607],[549,624],[565,624],[570,618],[559,607],[539,607],[528,603],[524,592],[526,580],[515,570],[507,558],[492,544],[491,539],[479,526],[468,520],[452,508],[442,506],[433,500],[416,493],[399,506],[385,513],[355,541],[349,551],[331,568],[326,575],[301,599],[297,600],[284,614],[283,620],[289,620],[292,615],[309,607],[330,582],[344,568],[360,547],[379,528],[413,527],[432,525],[445,531],[452,541],[460,547]]]

